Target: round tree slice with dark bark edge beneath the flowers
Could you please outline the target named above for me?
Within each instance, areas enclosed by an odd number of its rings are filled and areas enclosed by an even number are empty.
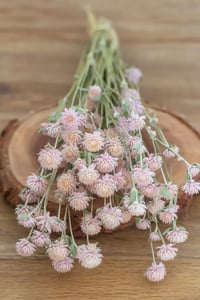
[[[46,143],[47,138],[38,133],[40,124],[54,111],[52,108],[41,110],[26,116],[23,120],[13,120],[2,132],[0,138],[0,191],[5,199],[14,207],[21,203],[18,194],[25,185],[26,177],[39,168],[37,153]],[[199,134],[184,120],[176,115],[156,109],[159,123],[170,144],[176,144],[181,154],[189,162],[200,161]],[[146,141],[148,143],[148,140]],[[150,145],[149,145],[150,147]],[[182,185],[185,179],[185,166],[173,160],[173,181]],[[179,205],[187,208],[192,198],[184,193],[179,194]],[[101,200],[95,201],[96,207]],[[57,213],[57,204],[49,201],[48,209],[52,214]],[[80,215],[72,211],[73,231],[76,236],[82,235],[80,231]],[[133,223],[133,219],[121,226],[123,229]]]

